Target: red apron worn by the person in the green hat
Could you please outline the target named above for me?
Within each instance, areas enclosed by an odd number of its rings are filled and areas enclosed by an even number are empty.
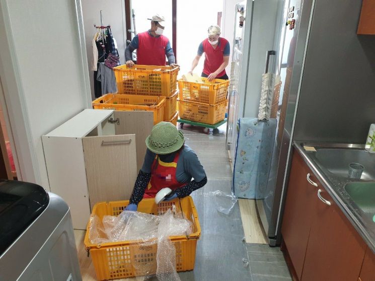
[[[180,152],[176,153],[175,159],[171,163],[165,163],[160,160],[159,156],[155,157],[151,167],[151,180],[144,192],[143,198],[154,198],[156,193],[164,187],[172,190],[185,185],[176,179],[177,162],[180,158]]]

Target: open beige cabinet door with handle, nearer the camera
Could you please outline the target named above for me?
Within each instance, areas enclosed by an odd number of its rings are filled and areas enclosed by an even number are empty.
[[[100,201],[127,200],[137,176],[135,135],[82,139],[90,208]]]

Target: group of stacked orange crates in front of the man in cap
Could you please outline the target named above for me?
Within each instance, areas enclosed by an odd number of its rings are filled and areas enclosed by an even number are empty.
[[[118,93],[93,101],[94,109],[153,111],[154,124],[177,124],[177,75],[179,67],[135,64],[113,68]]]

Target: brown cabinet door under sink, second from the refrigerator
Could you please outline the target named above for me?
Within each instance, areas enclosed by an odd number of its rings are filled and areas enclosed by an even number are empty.
[[[321,197],[331,205],[319,199],[316,191],[315,215],[301,280],[357,280],[366,245],[328,192],[320,189]]]

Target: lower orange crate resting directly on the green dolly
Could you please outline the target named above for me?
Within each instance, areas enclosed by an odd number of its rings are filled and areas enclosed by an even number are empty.
[[[180,118],[214,125],[224,119],[228,101],[216,105],[178,100]]]

